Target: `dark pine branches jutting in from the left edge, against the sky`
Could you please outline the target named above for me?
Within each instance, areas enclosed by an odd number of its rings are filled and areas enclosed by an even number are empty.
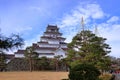
[[[5,37],[0,33],[0,49],[1,50],[19,48],[23,44],[24,44],[24,41],[19,35],[12,34],[10,37]]]

